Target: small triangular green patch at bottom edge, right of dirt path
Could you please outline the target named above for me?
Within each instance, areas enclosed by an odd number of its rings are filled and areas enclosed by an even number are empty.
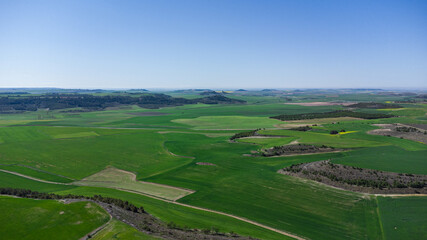
[[[107,226],[96,233],[91,239],[93,240],[108,240],[108,239],[119,239],[119,240],[155,240],[160,239],[143,232],[136,230],[135,228],[122,223],[118,220],[111,220]]]

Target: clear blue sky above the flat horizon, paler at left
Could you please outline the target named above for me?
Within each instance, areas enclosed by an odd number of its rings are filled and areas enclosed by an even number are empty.
[[[0,0],[0,87],[427,87],[427,1]]]

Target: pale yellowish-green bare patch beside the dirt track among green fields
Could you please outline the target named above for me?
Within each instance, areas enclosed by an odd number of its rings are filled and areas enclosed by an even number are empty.
[[[135,178],[135,174],[131,172],[126,172],[110,167],[94,175],[86,177],[81,181],[75,182],[74,184],[80,186],[123,189],[173,201],[193,193],[193,191],[186,189],[136,181]]]

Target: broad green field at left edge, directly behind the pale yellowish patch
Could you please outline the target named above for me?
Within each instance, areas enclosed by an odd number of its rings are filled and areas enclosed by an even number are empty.
[[[79,128],[70,129],[81,131]],[[24,130],[34,132],[40,130],[40,127],[23,127],[19,132]],[[156,131],[102,130],[104,131],[94,129],[100,135],[98,137],[38,138],[34,141],[3,143],[0,144],[1,163],[22,164],[66,177],[82,179],[107,166],[136,171],[140,178],[155,175],[191,161],[167,152],[163,147],[164,135]],[[51,128],[50,131],[63,132],[64,128]],[[39,134],[41,132],[41,130],[38,131]]]

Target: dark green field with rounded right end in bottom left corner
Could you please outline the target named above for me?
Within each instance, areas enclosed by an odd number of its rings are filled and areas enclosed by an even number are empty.
[[[90,202],[63,204],[0,196],[0,211],[3,239],[79,239],[109,219]]]

